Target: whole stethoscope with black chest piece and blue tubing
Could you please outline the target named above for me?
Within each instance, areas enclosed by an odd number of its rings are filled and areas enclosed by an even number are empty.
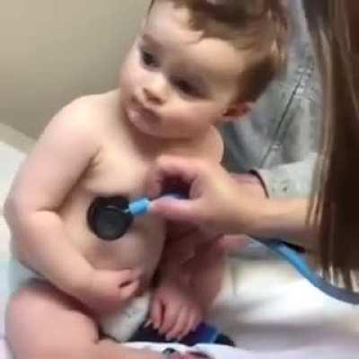
[[[177,194],[166,196],[178,197]],[[104,241],[116,241],[121,238],[136,217],[148,213],[151,200],[147,197],[139,198],[129,202],[126,197],[97,197],[87,212],[87,223],[98,238]],[[359,293],[331,285],[318,275],[308,264],[298,250],[282,240],[263,240],[254,238],[272,250],[278,256],[285,258],[311,285],[314,285],[321,292],[341,302],[359,304]]]

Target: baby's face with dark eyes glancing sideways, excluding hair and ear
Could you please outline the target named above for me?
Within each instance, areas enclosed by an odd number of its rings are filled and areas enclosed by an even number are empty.
[[[121,68],[127,117],[150,136],[196,136],[232,105],[242,68],[229,42],[202,39],[186,10],[157,2]]]

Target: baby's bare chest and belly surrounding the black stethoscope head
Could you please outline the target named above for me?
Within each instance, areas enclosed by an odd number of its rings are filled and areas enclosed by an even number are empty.
[[[92,231],[88,213],[96,198],[124,197],[132,201],[144,196],[144,183],[153,159],[133,146],[104,144],[63,208],[74,245],[95,267],[142,267],[153,273],[162,252],[164,226],[159,218],[145,215],[131,223],[128,231],[105,241]]]

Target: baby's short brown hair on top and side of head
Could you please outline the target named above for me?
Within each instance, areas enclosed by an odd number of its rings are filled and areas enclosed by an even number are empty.
[[[243,50],[239,101],[256,101],[283,68],[288,18],[282,0],[152,0],[171,1],[188,9],[189,26],[203,37],[225,39]]]

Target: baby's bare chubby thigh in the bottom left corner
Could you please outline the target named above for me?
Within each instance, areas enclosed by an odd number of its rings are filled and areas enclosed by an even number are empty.
[[[6,311],[6,337],[16,359],[81,357],[98,340],[93,320],[45,283],[22,287]]]

